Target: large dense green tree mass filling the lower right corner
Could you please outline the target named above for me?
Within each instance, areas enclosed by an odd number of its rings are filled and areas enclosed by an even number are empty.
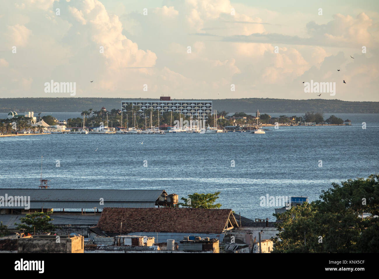
[[[322,200],[273,214],[281,221],[273,252],[379,252],[379,175],[332,186]]]

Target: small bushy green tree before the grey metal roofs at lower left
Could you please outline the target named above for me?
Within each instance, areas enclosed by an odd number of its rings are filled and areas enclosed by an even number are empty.
[[[55,230],[55,226],[50,222],[54,219],[50,218],[50,212],[34,212],[32,214],[26,214],[25,217],[20,218],[21,224],[17,225],[17,229],[26,229],[25,233],[34,233],[34,227],[37,232],[51,232]]]

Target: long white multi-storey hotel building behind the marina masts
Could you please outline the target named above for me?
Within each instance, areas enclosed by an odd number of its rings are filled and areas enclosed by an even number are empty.
[[[128,105],[138,106],[140,112],[146,113],[153,108],[153,110],[159,110],[161,115],[172,111],[185,116],[207,117],[209,113],[212,113],[212,101],[205,100],[171,101],[171,97],[160,97],[159,101],[121,101],[121,110],[125,111]]]

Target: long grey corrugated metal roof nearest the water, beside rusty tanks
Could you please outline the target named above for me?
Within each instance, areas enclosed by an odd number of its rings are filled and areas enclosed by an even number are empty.
[[[30,208],[103,208],[103,207],[154,207],[164,190],[114,189],[11,189],[1,188],[0,196],[30,197]],[[100,199],[104,204],[100,205]],[[25,208],[25,206],[0,206]]]

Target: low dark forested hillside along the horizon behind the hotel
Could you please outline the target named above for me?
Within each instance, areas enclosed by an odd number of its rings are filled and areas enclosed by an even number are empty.
[[[121,109],[126,98],[0,98],[0,112],[18,109],[34,112],[81,112],[83,110]],[[130,99],[130,98],[129,98]],[[136,100],[157,100],[133,98]],[[208,99],[207,99],[208,100]],[[227,112],[324,112],[324,113],[379,113],[379,102],[348,102],[340,100],[309,99],[215,99],[213,109]]]

